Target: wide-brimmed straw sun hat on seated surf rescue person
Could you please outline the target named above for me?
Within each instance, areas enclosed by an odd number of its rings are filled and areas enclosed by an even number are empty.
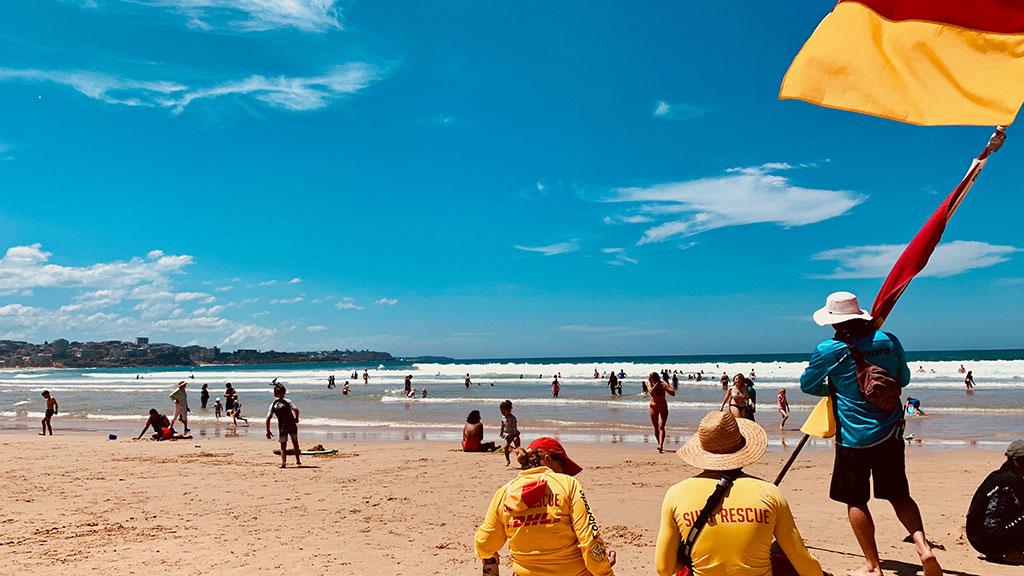
[[[730,412],[709,412],[697,434],[677,454],[687,464],[706,470],[731,470],[753,464],[768,448],[765,429]]]

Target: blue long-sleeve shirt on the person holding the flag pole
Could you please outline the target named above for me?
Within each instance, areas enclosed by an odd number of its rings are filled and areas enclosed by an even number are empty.
[[[910,368],[903,357],[903,346],[896,336],[876,331],[854,340],[864,358],[888,370],[905,386],[910,382]],[[811,362],[800,376],[800,389],[813,396],[828,396],[828,380],[836,389],[836,413],[841,446],[864,448],[889,439],[903,421],[903,407],[885,412],[867,402],[857,384],[857,365],[845,342],[828,338],[819,343]]]

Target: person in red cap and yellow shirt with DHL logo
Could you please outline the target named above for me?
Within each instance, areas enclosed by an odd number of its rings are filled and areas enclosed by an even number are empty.
[[[517,450],[519,476],[495,492],[474,551],[494,562],[509,542],[516,576],[614,576],[615,552],[601,539],[581,468],[553,438]]]

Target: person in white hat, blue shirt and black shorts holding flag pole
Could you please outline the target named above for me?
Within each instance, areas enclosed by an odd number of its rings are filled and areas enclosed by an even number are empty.
[[[889,500],[896,517],[913,538],[925,576],[941,576],[942,569],[925,538],[921,510],[910,497],[903,443],[903,408],[884,411],[869,403],[857,381],[855,346],[876,366],[889,371],[900,386],[910,381],[903,346],[892,334],[874,329],[871,316],[860,308],[849,292],[828,295],[825,306],[814,313],[819,326],[831,326],[836,336],[822,341],[800,377],[800,388],[814,396],[834,395],[838,431],[836,462],[828,497],[847,505],[850,526],[867,564],[850,574],[881,576],[874,522],[867,509],[868,480],[874,497]]]

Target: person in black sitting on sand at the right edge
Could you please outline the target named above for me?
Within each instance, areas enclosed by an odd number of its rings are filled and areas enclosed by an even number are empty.
[[[1024,564],[1024,440],[1010,443],[1007,461],[974,493],[967,539],[989,562]]]

